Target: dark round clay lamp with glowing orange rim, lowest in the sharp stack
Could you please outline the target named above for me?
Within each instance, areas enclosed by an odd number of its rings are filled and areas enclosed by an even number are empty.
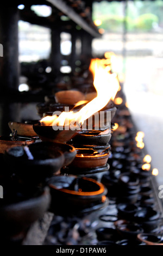
[[[53,176],[50,211],[63,215],[84,215],[108,205],[106,188],[96,180],[73,175]]]

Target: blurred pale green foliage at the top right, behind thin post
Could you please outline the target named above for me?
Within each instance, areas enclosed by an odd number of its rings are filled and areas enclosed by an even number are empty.
[[[100,19],[105,31],[121,32],[126,26],[129,32],[154,31],[163,24],[163,1],[128,1],[127,17],[124,17],[124,2],[93,4],[93,20]]]

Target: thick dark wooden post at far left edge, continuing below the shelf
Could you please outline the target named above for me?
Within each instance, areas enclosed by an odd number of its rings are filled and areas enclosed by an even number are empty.
[[[0,43],[3,45],[3,57],[0,57],[0,87],[4,95],[1,105],[1,135],[9,135],[8,122],[19,119],[19,105],[10,104],[8,94],[18,89],[18,9],[16,4],[5,4],[0,8]]]

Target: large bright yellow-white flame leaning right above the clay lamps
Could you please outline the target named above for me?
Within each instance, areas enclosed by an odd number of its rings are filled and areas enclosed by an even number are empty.
[[[62,112],[59,117],[53,115],[52,117],[45,117],[40,120],[42,125],[48,126],[68,126],[73,123],[77,127],[84,123],[86,119],[104,108],[110,99],[114,100],[120,84],[116,73],[108,72],[108,66],[104,59],[92,59],[90,64],[90,71],[93,74],[93,85],[96,89],[97,96],[87,103],[80,111]],[[110,69],[109,69],[110,71]],[[77,103],[78,105],[78,103]],[[80,102],[81,105],[81,102]],[[80,125],[79,125],[80,124]],[[55,130],[55,129],[54,129]]]

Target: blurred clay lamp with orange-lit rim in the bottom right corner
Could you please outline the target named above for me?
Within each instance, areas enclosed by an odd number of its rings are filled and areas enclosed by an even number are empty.
[[[137,235],[137,239],[145,243],[145,245],[163,245],[161,235],[141,233]]]

